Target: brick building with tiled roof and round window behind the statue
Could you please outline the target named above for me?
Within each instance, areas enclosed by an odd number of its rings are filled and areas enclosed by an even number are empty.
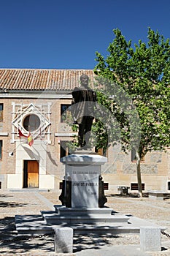
[[[0,69],[0,187],[1,189],[59,189],[64,172],[60,158],[67,154],[66,141],[72,129],[61,113],[72,102],[72,90],[87,74],[93,83],[93,70],[82,69]],[[28,120],[31,121],[31,125]],[[31,136],[29,146],[19,137]],[[107,151],[103,167],[109,191],[117,186],[136,188],[136,163],[131,152],[120,146]],[[148,153],[142,162],[144,190],[170,190],[169,151]]]

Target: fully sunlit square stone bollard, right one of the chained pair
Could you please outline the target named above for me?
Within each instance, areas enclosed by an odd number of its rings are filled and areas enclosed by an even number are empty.
[[[161,227],[140,227],[140,246],[143,252],[160,252]]]

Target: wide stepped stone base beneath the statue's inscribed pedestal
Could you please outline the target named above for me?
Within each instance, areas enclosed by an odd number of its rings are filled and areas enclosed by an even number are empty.
[[[42,211],[41,215],[16,215],[15,222],[19,235],[51,233],[55,227],[71,227],[77,234],[139,234],[141,226],[155,227],[144,219],[117,214],[112,208],[73,209],[65,206],[55,206],[55,211]]]

